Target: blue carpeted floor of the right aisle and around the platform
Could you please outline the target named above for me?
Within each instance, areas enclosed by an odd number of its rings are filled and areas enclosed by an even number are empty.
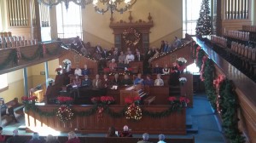
[[[224,143],[224,135],[221,132],[221,126],[217,122],[216,115],[212,112],[212,108],[205,94],[195,94],[194,107],[187,109],[187,115],[191,116],[192,128],[198,129],[197,133],[188,133],[187,135],[169,135],[166,138],[187,138],[195,135],[195,143]],[[3,134],[12,134],[14,129],[25,125],[24,117],[19,118],[20,123],[9,123],[3,127]],[[41,135],[47,135],[47,131],[38,131]],[[31,135],[26,133],[24,129],[19,129],[19,134]],[[55,134],[67,136],[67,134]],[[105,134],[78,134],[79,136],[105,136]],[[134,134],[134,137],[141,137],[141,134]],[[158,138],[158,134],[150,134],[149,138]]]

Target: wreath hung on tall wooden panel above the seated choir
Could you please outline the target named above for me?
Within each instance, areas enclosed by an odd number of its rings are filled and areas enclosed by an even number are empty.
[[[141,40],[141,34],[137,32],[134,28],[129,28],[123,32],[123,38],[127,45],[136,46],[137,43]]]

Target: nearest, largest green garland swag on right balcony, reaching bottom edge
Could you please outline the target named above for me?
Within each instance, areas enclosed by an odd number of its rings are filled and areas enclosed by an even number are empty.
[[[221,85],[220,93],[223,96],[223,101],[220,102],[220,106],[222,107],[222,119],[223,119],[223,128],[224,133],[227,138],[230,139],[231,143],[243,143],[244,137],[241,136],[241,132],[238,129],[238,121],[237,118],[237,108],[238,100],[237,95],[233,91],[233,86],[230,80],[226,79],[224,83]]]

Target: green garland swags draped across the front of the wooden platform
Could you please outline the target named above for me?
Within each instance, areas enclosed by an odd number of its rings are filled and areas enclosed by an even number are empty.
[[[104,108],[103,112],[107,113],[110,117],[113,117],[113,118],[125,117],[125,111],[127,110],[127,106],[125,106],[119,112],[114,112],[107,105],[96,104],[92,106],[89,110],[84,112],[76,112],[74,110],[73,111],[74,117],[75,116],[79,116],[79,117],[91,116],[97,112],[98,107],[103,107]],[[38,108],[38,106],[35,106],[34,104],[25,104],[26,112],[29,112],[29,111],[37,112],[42,117],[54,117],[56,115],[57,109],[58,107],[52,110],[51,112],[42,111]],[[170,106],[168,109],[166,109],[166,111],[163,111],[163,112],[148,112],[147,110],[143,110],[143,116],[154,117],[154,118],[167,117],[170,114],[172,114],[172,112],[179,112],[180,110],[181,108],[174,108],[173,106]]]

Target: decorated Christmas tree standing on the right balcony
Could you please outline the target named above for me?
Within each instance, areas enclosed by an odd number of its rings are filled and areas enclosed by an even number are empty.
[[[196,22],[196,35],[210,35],[212,33],[211,20],[209,0],[202,0],[200,17]]]

